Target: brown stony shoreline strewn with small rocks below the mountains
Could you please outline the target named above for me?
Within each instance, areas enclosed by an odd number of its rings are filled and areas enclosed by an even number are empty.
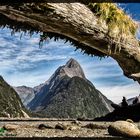
[[[18,119],[17,119],[18,120]],[[112,122],[94,122],[56,119],[5,119],[0,121],[0,138],[32,139],[107,139],[123,137],[111,136],[108,127]],[[28,120],[28,121],[27,121]],[[32,121],[31,121],[32,120]],[[34,120],[34,121],[33,121]],[[136,125],[139,125],[136,123]],[[4,128],[4,131],[2,132]],[[124,139],[124,138],[123,138]],[[128,138],[126,138],[128,139]],[[130,138],[132,140],[132,138]],[[125,140],[125,139],[124,139]]]

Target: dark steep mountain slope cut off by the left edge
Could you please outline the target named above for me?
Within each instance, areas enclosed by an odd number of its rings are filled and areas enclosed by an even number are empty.
[[[0,76],[0,117],[29,117],[16,91]]]

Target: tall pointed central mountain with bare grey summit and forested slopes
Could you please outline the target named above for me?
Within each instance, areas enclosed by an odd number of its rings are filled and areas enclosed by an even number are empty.
[[[95,118],[112,111],[111,103],[86,79],[80,64],[70,59],[38,87],[27,106],[45,117]]]

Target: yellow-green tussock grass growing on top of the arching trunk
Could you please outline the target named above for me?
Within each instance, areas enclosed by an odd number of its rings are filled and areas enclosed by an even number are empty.
[[[105,21],[110,35],[133,35],[137,31],[137,24],[122,9],[114,3],[89,3],[88,7],[99,17],[99,21]]]

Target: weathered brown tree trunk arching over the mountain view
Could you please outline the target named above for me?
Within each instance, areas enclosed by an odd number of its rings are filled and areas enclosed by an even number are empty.
[[[0,16],[7,24],[26,25],[41,32],[53,32],[76,40],[114,58],[124,75],[140,83],[140,47],[133,37],[117,42],[108,26],[81,3],[22,3],[1,5]],[[3,22],[3,21],[1,21]]]

